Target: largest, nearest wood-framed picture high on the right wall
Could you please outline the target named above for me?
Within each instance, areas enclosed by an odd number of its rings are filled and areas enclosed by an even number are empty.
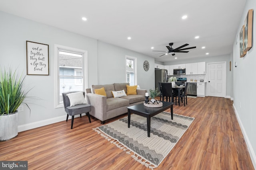
[[[253,9],[248,11],[244,21],[244,53],[252,48],[252,15]]]

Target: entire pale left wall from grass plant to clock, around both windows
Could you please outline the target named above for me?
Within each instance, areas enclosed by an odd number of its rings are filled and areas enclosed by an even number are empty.
[[[18,68],[26,75],[26,41],[49,45],[49,76],[27,75],[25,87],[33,87],[28,96],[41,100],[28,101],[29,109],[18,114],[19,131],[65,120],[66,113],[54,107],[54,44],[88,51],[88,87],[125,81],[125,55],[138,58],[138,84],[149,89],[154,86],[154,59],[127,49],[98,42],[96,39],[64,31],[0,11],[0,66]],[[143,69],[144,60],[150,70]],[[118,61],[118,62],[117,62]],[[86,87],[86,88],[88,88]]]

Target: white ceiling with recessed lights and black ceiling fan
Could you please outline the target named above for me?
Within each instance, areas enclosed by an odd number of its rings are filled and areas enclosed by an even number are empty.
[[[246,0],[0,0],[0,10],[167,62],[232,53]],[[187,15],[186,20],[182,16]],[[82,21],[86,17],[87,21]],[[242,25],[241,25],[242,26]],[[199,39],[194,39],[198,35]],[[130,36],[132,39],[128,40]],[[188,43],[189,53],[153,55]],[[205,49],[201,47],[205,46]],[[184,48],[187,48],[184,47]],[[206,53],[209,55],[206,55]]]

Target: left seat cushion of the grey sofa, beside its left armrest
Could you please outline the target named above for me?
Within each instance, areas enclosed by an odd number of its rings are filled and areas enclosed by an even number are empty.
[[[125,97],[125,96],[124,96]],[[107,98],[107,111],[113,110],[123,106],[129,106],[129,100],[122,98]]]

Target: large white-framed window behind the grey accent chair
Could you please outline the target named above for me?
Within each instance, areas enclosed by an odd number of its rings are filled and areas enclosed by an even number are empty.
[[[62,107],[62,93],[87,87],[87,52],[55,45],[55,106]],[[86,83],[85,83],[86,82]]]

